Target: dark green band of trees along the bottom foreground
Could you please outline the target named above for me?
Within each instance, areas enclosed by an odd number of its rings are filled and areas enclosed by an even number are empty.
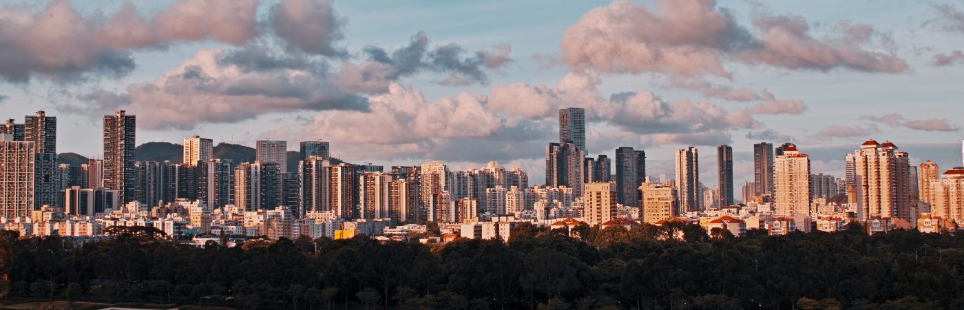
[[[74,248],[0,236],[5,296],[264,309],[961,309],[964,238],[894,231],[710,238],[695,225],[520,226],[507,242],[180,245],[143,232]],[[668,239],[683,234],[684,240]]]

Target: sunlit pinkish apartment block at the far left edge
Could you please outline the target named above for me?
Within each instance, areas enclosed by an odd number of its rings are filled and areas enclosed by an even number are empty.
[[[0,134],[0,218],[29,216],[35,206],[37,149],[32,141]]]

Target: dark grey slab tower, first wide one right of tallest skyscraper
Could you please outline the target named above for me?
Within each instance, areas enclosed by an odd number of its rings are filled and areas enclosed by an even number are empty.
[[[646,179],[646,153],[630,147],[616,149],[616,201],[629,207],[639,203],[639,184]]]

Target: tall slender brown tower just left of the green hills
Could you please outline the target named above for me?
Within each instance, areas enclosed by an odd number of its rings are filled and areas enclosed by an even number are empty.
[[[137,199],[136,122],[123,110],[104,115],[103,186],[118,190],[121,205]]]

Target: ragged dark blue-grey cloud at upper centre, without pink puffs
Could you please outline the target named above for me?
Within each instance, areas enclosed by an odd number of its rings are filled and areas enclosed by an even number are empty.
[[[509,58],[512,47],[504,43],[496,44],[494,51],[468,53],[459,44],[449,43],[432,48],[430,42],[424,32],[419,32],[408,45],[390,52],[379,46],[366,46],[363,54],[368,61],[354,65],[356,68],[352,70],[361,73],[353,76],[384,76],[394,80],[428,70],[448,74],[448,77],[438,81],[442,85],[488,85],[486,70],[500,70],[512,62]],[[374,66],[372,63],[385,66]]]

